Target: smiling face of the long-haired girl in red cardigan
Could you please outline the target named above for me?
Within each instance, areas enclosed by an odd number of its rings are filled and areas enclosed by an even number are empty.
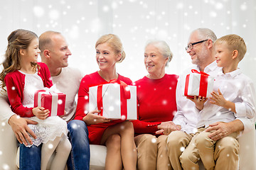
[[[38,38],[33,38],[33,40],[31,40],[31,43],[28,45],[28,48],[24,50],[23,60],[26,60],[27,62],[37,62],[38,55],[41,52],[38,48],[38,45]]]

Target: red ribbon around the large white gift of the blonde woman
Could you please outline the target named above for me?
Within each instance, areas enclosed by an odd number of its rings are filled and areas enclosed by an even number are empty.
[[[124,83],[124,81],[120,81],[117,79],[112,79],[105,84],[120,84],[120,100],[121,100],[121,118],[125,116],[127,119],[127,99],[131,98],[131,92],[128,89],[128,85]],[[97,86],[97,109],[101,112],[99,115],[103,115],[103,102],[102,102],[102,86],[104,84],[100,84]]]

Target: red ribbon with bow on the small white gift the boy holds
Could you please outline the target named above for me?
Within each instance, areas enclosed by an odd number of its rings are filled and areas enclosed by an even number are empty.
[[[207,96],[207,86],[208,86],[208,76],[209,74],[205,73],[205,72],[198,72],[196,69],[191,69],[191,72],[193,73],[197,73],[197,74],[201,74],[201,77],[200,77],[200,86],[199,86],[199,96],[204,96],[206,97]],[[185,82],[185,93],[184,95],[185,96],[188,96],[190,98],[193,98],[193,96],[189,96],[188,95],[188,81],[189,81],[189,75],[188,74],[186,76],[186,82]]]

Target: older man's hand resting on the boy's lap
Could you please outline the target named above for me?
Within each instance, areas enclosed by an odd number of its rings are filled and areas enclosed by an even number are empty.
[[[206,129],[206,132],[214,131],[208,135],[212,140],[220,140],[235,132],[233,125],[230,125],[229,123],[217,122],[210,124],[209,126],[210,127]]]

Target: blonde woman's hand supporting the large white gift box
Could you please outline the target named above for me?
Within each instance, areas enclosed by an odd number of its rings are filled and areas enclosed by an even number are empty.
[[[97,115],[100,113],[98,110],[90,111],[85,115],[82,120],[85,122],[86,125],[92,125],[96,123],[109,123],[111,120],[103,117],[102,115]]]

